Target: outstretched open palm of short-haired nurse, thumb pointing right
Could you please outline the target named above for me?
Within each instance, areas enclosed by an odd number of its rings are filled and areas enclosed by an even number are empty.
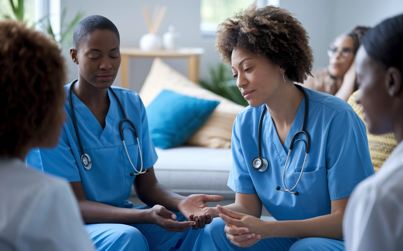
[[[219,195],[192,194],[178,204],[178,208],[189,221],[195,221],[193,229],[204,228],[212,221],[212,211],[206,204],[207,201],[220,201]]]

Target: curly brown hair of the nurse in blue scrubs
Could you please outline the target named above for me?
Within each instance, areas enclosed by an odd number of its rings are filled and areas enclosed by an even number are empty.
[[[290,80],[303,83],[308,75],[312,76],[314,57],[307,32],[293,15],[275,6],[257,8],[255,2],[219,24],[216,51],[227,64],[231,64],[235,47],[265,55],[284,68]]]

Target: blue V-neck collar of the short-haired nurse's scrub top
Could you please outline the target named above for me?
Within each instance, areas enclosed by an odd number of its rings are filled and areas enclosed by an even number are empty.
[[[96,137],[100,140],[104,147],[106,147],[108,139],[112,134],[114,116],[117,113],[116,108],[118,106],[116,98],[114,98],[112,92],[109,90],[109,88],[107,90],[110,105],[108,109],[108,114],[106,114],[104,129],[102,129],[100,123],[91,112],[91,110],[89,110],[89,108],[74,94],[74,92],[72,92],[71,96],[73,100],[74,112],[80,114],[81,117],[83,117],[83,120],[87,123],[88,127],[91,129],[94,135],[96,135]]]

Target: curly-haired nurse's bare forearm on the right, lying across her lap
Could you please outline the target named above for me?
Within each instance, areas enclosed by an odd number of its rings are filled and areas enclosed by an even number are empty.
[[[262,224],[262,239],[272,237],[322,237],[342,239],[343,213],[335,212],[306,220],[266,221]]]

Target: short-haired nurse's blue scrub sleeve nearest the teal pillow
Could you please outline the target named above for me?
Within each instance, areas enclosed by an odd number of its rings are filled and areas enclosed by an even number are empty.
[[[145,112],[144,104],[140,98],[139,103],[141,110],[141,141],[143,145],[141,155],[143,156],[143,168],[150,168],[156,163],[158,156],[151,140],[150,129],[148,128],[147,113]]]

